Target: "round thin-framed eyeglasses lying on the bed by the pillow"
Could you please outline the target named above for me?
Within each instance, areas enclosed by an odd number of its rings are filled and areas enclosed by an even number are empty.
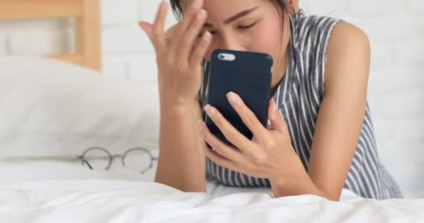
[[[146,148],[130,148],[123,155],[112,155],[107,149],[102,147],[87,148],[82,155],[78,156],[83,166],[87,165],[93,170],[108,170],[112,166],[115,158],[120,158],[124,167],[131,167],[137,169],[140,174],[153,167],[153,161],[157,161],[157,157],[153,157],[150,151]]]

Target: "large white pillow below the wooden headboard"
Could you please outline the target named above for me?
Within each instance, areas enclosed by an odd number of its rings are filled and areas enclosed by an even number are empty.
[[[2,158],[158,148],[158,87],[52,59],[3,56],[0,120]]]

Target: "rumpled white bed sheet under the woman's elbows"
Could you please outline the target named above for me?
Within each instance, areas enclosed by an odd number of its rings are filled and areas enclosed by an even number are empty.
[[[312,195],[272,199],[268,189],[209,181],[209,193],[184,193],[114,165],[0,163],[1,222],[424,222],[423,199],[374,201],[348,190],[341,202]]]

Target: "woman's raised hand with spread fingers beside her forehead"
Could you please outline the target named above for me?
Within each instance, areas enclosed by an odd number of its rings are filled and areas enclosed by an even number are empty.
[[[199,32],[206,21],[203,0],[193,1],[179,24],[164,31],[168,5],[160,4],[153,24],[140,22],[156,49],[160,100],[177,105],[196,100],[201,87],[202,59],[211,43],[211,33]]]

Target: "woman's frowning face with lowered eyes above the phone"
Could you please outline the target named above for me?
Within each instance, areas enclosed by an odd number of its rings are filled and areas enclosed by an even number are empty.
[[[183,0],[183,7],[193,0]],[[289,43],[289,17],[268,0],[205,0],[208,18],[203,31],[213,38],[206,54],[210,59],[215,49],[262,52],[273,57],[272,86],[277,84],[285,67]],[[297,10],[297,8],[295,8]]]

